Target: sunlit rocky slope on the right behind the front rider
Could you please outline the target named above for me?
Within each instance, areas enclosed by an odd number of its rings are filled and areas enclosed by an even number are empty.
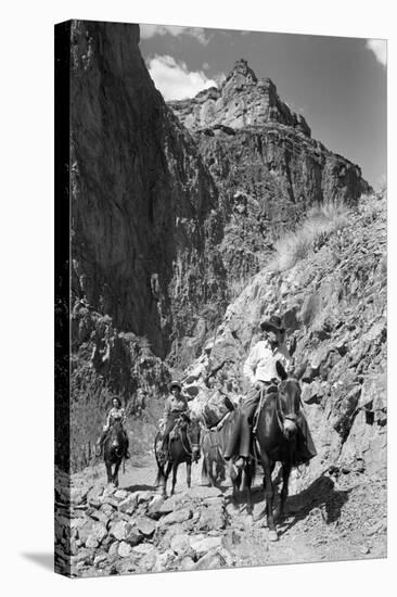
[[[204,388],[208,369],[244,394],[242,366],[259,322],[282,315],[318,450],[309,468],[295,473],[293,490],[330,470],[386,473],[385,207],[384,199],[364,201],[293,268],[264,268],[187,371],[192,394]]]

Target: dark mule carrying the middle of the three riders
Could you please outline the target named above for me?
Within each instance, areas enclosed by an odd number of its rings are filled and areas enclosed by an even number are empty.
[[[200,459],[200,421],[197,419],[190,420],[183,415],[177,420],[170,433],[166,462],[163,462],[158,454],[161,443],[162,434],[158,432],[154,440],[154,454],[158,469],[156,485],[162,485],[162,494],[164,497],[167,497],[169,473],[172,471],[171,495],[174,495],[178,467],[181,462],[187,463],[187,483],[188,487],[191,487],[192,462],[196,462]]]

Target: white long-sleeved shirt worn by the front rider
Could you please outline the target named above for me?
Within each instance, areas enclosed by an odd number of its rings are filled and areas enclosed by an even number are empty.
[[[271,348],[267,340],[260,340],[253,346],[248,358],[244,363],[244,376],[254,384],[257,381],[271,381],[279,377],[276,363],[280,360],[281,365],[286,370],[291,356],[285,344],[277,348]]]

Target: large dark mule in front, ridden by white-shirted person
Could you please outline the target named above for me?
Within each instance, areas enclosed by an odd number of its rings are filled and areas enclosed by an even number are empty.
[[[278,364],[279,365],[279,364]],[[296,447],[300,414],[300,385],[294,378],[287,378],[280,365],[278,371],[281,383],[278,389],[266,395],[258,415],[256,431],[253,439],[254,458],[245,466],[245,486],[247,490],[247,509],[252,515],[251,485],[255,478],[255,466],[259,462],[264,469],[264,491],[266,499],[267,524],[270,541],[277,541],[278,534],[274,520],[284,513],[289,493],[291,470],[296,462]],[[282,488],[280,504],[273,511],[274,487],[271,479],[276,462],[281,462]]]

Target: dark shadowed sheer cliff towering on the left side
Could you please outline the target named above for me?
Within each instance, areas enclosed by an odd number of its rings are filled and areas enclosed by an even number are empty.
[[[218,191],[165,105],[138,48],[139,28],[72,28],[73,292],[157,355],[225,302]]]

